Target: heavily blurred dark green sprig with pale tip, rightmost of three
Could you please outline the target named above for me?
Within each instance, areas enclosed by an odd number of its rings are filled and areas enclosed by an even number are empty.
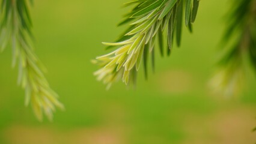
[[[216,91],[224,95],[236,95],[241,91],[246,59],[256,70],[256,1],[237,0],[231,5],[223,38],[224,56],[212,81]],[[229,42],[234,44],[228,46]]]

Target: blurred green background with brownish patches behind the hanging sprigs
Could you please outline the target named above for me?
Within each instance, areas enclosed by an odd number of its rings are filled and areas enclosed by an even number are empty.
[[[157,55],[155,74],[145,81],[141,69],[136,89],[119,82],[106,91],[90,60],[106,53],[102,41],[124,31],[116,25],[130,10],[121,7],[127,1],[34,2],[35,52],[66,111],[53,122],[35,119],[7,49],[0,55],[0,143],[255,143],[255,77],[239,97],[209,88],[231,0],[201,1],[194,33],[184,28],[182,46],[169,58]]]

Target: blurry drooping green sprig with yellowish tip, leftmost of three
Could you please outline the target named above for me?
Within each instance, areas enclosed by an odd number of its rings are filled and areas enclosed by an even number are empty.
[[[32,1],[29,1],[32,3]],[[17,63],[17,83],[25,89],[25,106],[31,103],[38,120],[43,113],[52,120],[55,107],[64,109],[43,74],[43,66],[32,50],[32,22],[28,1],[2,0],[0,13],[0,49],[3,51],[10,42],[14,67]]]

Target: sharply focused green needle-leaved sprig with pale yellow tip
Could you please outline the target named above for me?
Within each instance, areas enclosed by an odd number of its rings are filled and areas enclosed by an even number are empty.
[[[122,79],[126,85],[135,82],[141,63],[144,65],[145,77],[147,77],[149,55],[151,55],[154,67],[154,47],[157,39],[162,56],[165,51],[163,41],[167,43],[167,55],[172,51],[174,37],[177,46],[180,46],[183,15],[187,28],[192,31],[192,23],[195,22],[197,16],[199,1],[136,0],[125,5],[136,5],[126,15],[126,19],[120,23],[120,25],[130,23],[129,28],[117,42],[103,43],[109,46],[108,49],[114,46],[118,46],[118,49],[107,55],[99,56],[94,61],[101,67],[94,74],[108,87],[119,79]]]

